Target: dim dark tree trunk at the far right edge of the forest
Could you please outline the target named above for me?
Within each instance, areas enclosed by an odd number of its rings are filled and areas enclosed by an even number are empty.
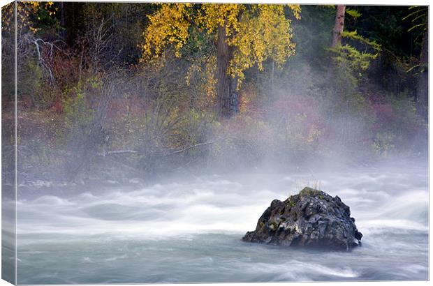
[[[428,88],[428,60],[429,60],[429,40],[428,40],[428,22],[426,22],[423,36],[423,46],[420,53],[421,73],[418,77],[416,91],[416,110],[422,119],[428,122],[428,106],[429,106],[429,88]]]

